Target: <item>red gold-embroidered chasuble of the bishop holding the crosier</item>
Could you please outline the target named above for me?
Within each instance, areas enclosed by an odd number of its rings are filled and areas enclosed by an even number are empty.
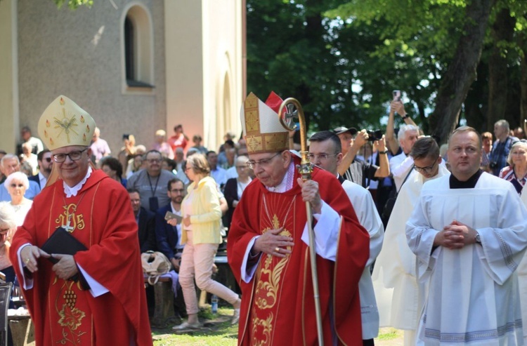
[[[318,344],[309,249],[301,241],[306,203],[296,175],[293,188],[281,194],[268,192],[258,179],[253,180],[235,208],[227,251],[242,288],[240,345]],[[317,255],[324,342],[333,345],[335,335],[338,345],[362,345],[358,281],[370,252],[370,237],[337,178],[315,168],[313,180],[322,199],[341,215],[337,261]],[[263,253],[252,281],[242,281],[240,269],[249,241],[282,226],[282,235],[294,239],[292,254],[278,258]]]

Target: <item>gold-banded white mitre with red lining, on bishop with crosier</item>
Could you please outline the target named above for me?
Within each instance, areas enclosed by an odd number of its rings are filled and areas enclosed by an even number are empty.
[[[289,133],[278,116],[281,103],[282,99],[275,93],[265,103],[254,93],[243,102],[240,117],[249,154],[289,149]]]

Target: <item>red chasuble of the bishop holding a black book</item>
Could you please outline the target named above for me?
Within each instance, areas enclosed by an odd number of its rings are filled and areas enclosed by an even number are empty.
[[[51,262],[39,259],[33,288],[24,291],[37,345],[129,345],[131,338],[136,345],[152,345],[130,199],[102,171],[92,171],[76,197],[65,198],[63,180],[35,197],[10,252],[19,281],[20,246],[41,246],[57,227],[68,224],[72,236],[88,248],[74,255],[77,265],[110,292],[93,298],[77,282],[58,279]]]

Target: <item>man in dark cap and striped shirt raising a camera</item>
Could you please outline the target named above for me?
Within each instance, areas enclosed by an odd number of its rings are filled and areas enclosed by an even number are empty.
[[[356,128],[346,128],[344,126],[334,128],[333,132],[339,136],[342,154],[344,154],[342,164],[339,166],[340,175],[362,187],[366,187],[366,178],[377,180],[377,178],[385,178],[390,175],[390,166],[388,156],[386,155],[388,152],[386,151],[384,135],[377,133],[377,131],[370,132],[370,134],[366,130],[357,132]],[[378,138],[370,138],[370,135],[375,134],[378,135]],[[353,139],[353,135],[356,135],[355,139]],[[368,140],[377,142],[379,166],[356,158],[359,149]]]

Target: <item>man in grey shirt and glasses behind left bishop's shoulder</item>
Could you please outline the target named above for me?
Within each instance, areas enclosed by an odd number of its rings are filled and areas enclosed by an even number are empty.
[[[132,174],[126,182],[126,187],[139,191],[141,206],[152,213],[170,203],[167,186],[169,180],[176,178],[174,173],[161,168],[162,160],[160,152],[150,150],[145,154],[146,168]]]

